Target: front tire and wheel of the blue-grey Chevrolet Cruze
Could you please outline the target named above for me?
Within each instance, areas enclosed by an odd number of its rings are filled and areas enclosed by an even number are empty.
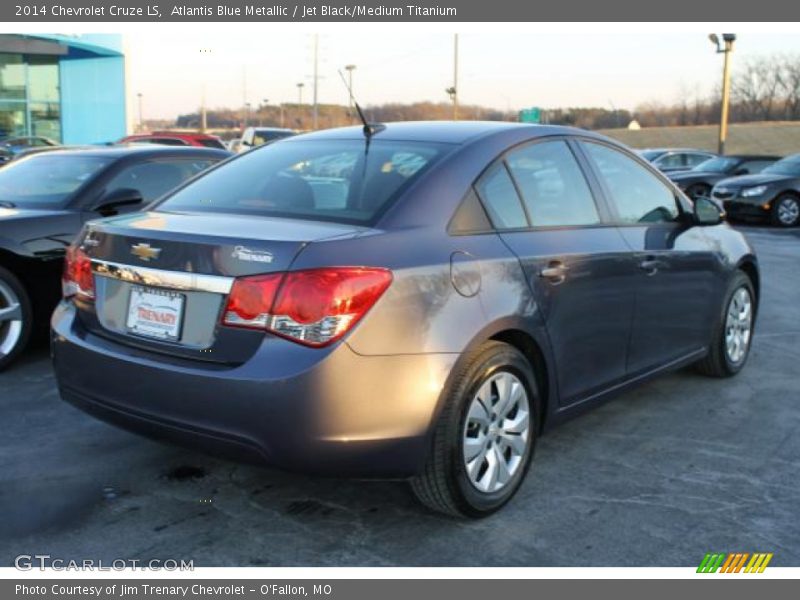
[[[732,377],[744,368],[753,341],[757,301],[753,282],[737,271],[717,315],[708,355],[697,363],[701,373]]]

